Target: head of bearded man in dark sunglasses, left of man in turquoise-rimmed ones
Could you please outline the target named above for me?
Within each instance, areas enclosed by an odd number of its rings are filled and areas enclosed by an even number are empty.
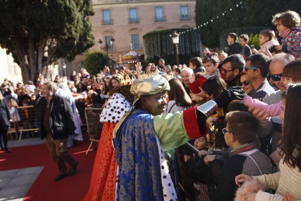
[[[228,87],[236,86],[238,76],[244,70],[245,64],[246,62],[244,57],[240,54],[231,55],[225,58],[223,63],[223,73]]]

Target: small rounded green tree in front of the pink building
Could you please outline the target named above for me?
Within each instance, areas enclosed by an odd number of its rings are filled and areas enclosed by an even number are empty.
[[[84,68],[91,74],[96,75],[100,70],[103,70],[107,64],[107,57],[101,52],[92,52],[85,54]]]

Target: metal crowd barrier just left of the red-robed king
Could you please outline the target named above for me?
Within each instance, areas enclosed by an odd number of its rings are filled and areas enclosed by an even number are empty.
[[[99,121],[102,110],[103,108],[85,108],[85,117],[87,122],[88,135],[91,141],[86,154],[88,154],[89,149],[91,148],[94,142],[99,142],[100,134],[103,126],[103,123]]]

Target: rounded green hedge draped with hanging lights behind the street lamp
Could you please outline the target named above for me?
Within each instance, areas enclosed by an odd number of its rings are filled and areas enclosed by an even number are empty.
[[[157,64],[158,60],[163,58],[166,64],[176,64],[175,48],[170,37],[174,30],[177,33],[183,32],[179,36],[180,64],[188,64],[190,58],[200,56],[201,42],[198,30],[184,28],[166,29],[149,32],[143,36],[146,63]]]

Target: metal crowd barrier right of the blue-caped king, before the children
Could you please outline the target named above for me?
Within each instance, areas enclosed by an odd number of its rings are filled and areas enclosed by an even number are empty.
[[[194,160],[198,150],[186,143],[175,149],[177,157],[179,186],[185,194],[186,200],[209,201],[207,184],[201,184],[191,176],[191,163],[188,160]]]

